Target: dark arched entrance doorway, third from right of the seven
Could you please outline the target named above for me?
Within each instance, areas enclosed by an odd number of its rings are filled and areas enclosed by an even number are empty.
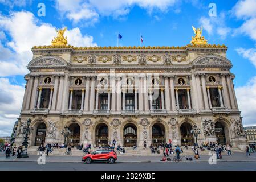
[[[165,127],[161,123],[155,123],[152,126],[152,143],[153,146],[159,146],[165,143]]]

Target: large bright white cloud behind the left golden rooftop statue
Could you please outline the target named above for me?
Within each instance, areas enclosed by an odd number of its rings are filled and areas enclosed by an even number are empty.
[[[30,12],[15,12],[9,16],[0,14],[0,28],[11,40],[0,44],[0,76],[25,75],[32,59],[32,46],[50,45],[56,36],[55,27],[41,23]],[[92,36],[82,35],[79,28],[67,30],[68,43],[72,46],[97,46]]]

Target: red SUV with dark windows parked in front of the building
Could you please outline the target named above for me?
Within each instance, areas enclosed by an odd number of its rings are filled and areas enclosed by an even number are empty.
[[[91,154],[86,154],[83,156],[82,161],[90,164],[94,161],[107,161],[110,164],[115,163],[117,160],[117,154],[113,150],[96,150]]]

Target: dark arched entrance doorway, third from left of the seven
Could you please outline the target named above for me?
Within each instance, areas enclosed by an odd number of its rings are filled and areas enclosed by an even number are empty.
[[[96,146],[99,146],[99,144],[101,147],[108,145],[108,126],[105,123],[97,125],[95,135]]]

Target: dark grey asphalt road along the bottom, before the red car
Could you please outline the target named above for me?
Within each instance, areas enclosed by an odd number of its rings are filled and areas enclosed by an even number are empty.
[[[31,170],[31,171],[44,171],[44,170],[73,170],[73,171],[175,171],[175,170],[239,170],[239,171],[255,171],[255,162],[218,162],[216,165],[210,165],[207,162],[197,163],[172,163],[172,162],[150,162],[150,163],[93,163],[83,164],[74,162],[48,162],[45,165],[38,165],[36,162],[1,162],[1,171],[15,171],[15,170]]]

